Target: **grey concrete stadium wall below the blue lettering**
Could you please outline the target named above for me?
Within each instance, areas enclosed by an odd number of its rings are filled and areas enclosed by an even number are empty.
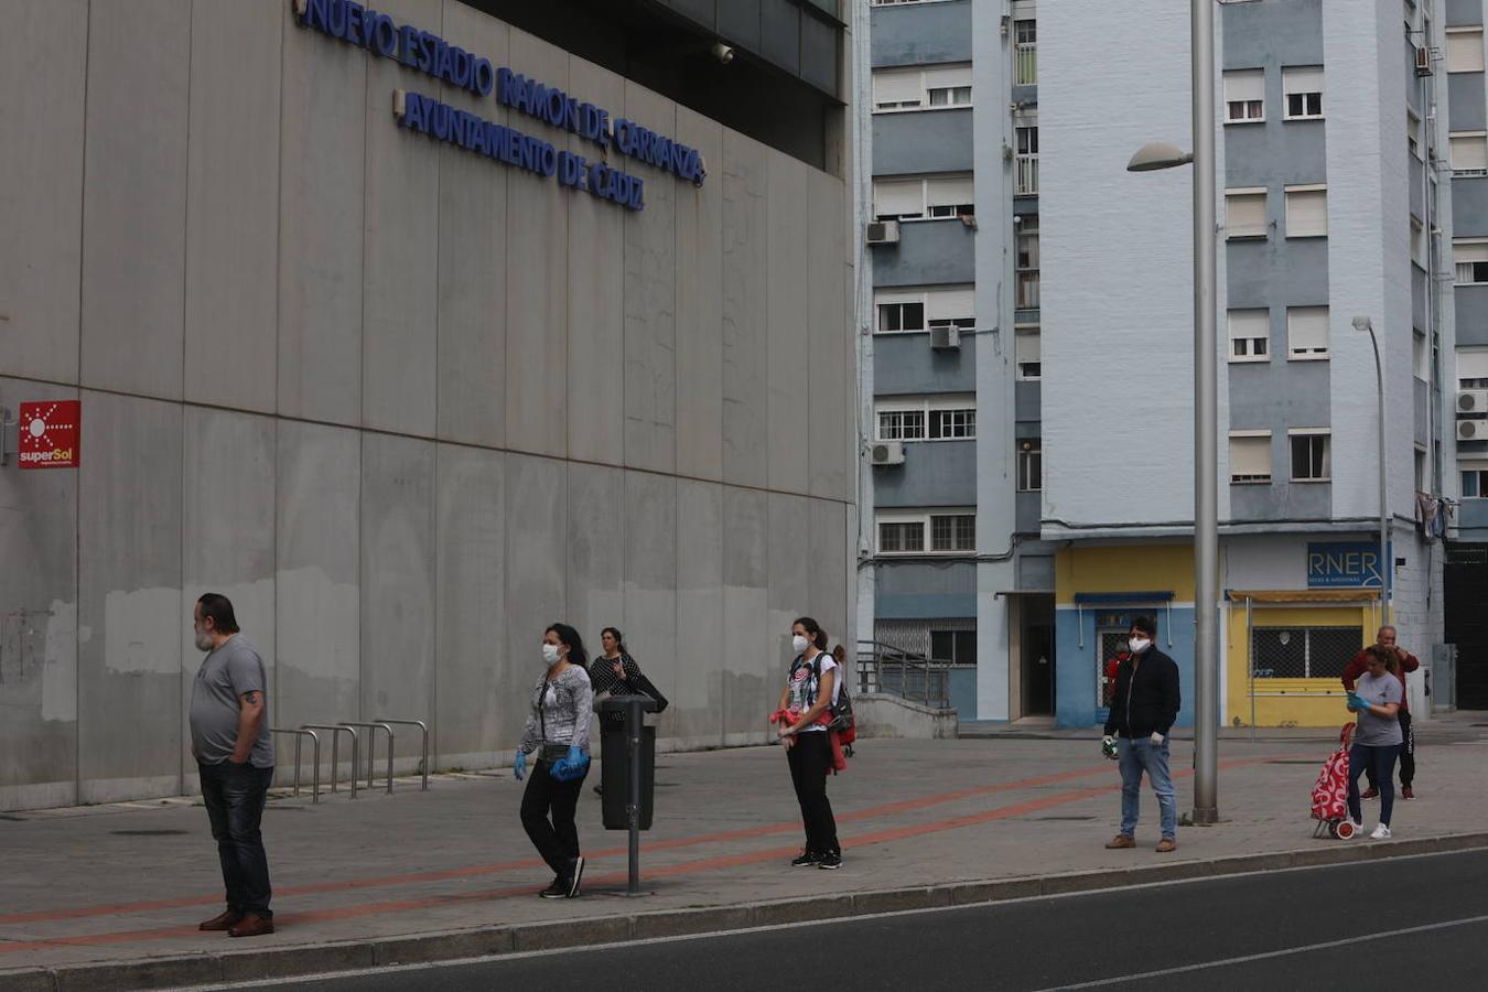
[[[394,88],[507,115],[289,3],[7,13],[0,403],[83,434],[0,471],[0,809],[195,788],[204,590],[274,726],[423,717],[436,766],[509,760],[554,620],[626,632],[667,747],[765,738],[795,616],[854,640],[842,180],[455,0],[379,9],[707,181],[626,161],[629,213],[408,132]]]

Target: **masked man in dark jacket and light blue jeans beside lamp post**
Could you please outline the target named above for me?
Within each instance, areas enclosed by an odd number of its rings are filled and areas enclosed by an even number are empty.
[[[1141,773],[1147,772],[1158,796],[1162,840],[1158,854],[1178,848],[1178,802],[1168,773],[1168,730],[1178,718],[1178,666],[1159,651],[1158,623],[1137,617],[1128,635],[1128,657],[1116,671],[1110,717],[1106,718],[1106,757],[1120,761],[1120,833],[1107,848],[1137,846],[1137,812],[1141,805]]]

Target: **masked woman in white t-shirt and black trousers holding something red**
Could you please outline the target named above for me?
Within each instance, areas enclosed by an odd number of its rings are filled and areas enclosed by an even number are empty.
[[[801,803],[801,822],[806,828],[806,848],[790,864],[841,869],[842,848],[838,845],[836,819],[827,799],[827,772],[832,770],[827,724],[832,721],[841,671],[827,654],[826,631],[815,620],[801,617],[790,625],[790,635],[796,660],[790,663],[790,678],[780,693],[780,708],[771,717],[780,724],[790,781]]]

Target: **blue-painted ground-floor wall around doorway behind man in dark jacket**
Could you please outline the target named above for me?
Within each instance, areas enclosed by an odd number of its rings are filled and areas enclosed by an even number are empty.
[[[1061,727],[1094,727],[1106,723],[1107,711],[1097,706],[1097,672],[1107,659],[1095,656],[1095,613],[1115,611],[1112,607],[1086,608],[1083,613],[1073,605],[1055,610],[1055,708]],[[1158,648],[1178,665],[1178,681],[1183,692],[1183,706],[1178,709],[1180,727],[1193,726],[1193,608],[1174,608],[1171,620],[1167,610],[1156,610]],[[1080,647],[1080,628],[1085,628],[1085,645]],[[1173,641],[1171,644],[1168,641]]]

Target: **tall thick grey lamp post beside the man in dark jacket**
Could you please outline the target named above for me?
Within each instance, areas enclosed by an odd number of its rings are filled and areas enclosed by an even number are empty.
[[[1216,354],[1214,7],[1190,0],[1193,153],[1147,144],[1126,165],[1193,164],[1193,822],[1219,822],[1219,388]]]

